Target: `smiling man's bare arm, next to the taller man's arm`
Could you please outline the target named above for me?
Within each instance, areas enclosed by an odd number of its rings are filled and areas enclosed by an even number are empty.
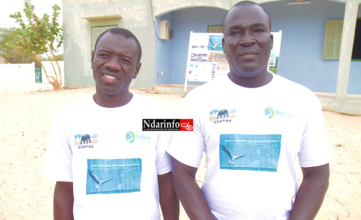
[[[173,189],[172,172],[158,175],[159,204],[164,220],[179,220],[179,199]]]

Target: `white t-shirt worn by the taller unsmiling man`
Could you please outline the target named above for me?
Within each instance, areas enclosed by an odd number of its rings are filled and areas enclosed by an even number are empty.
[[[202,192],[216,219],[287,219],[302,167],[332,160],[321,105],[307,88],[273,74],[244,88],[228,76],[192,90],[180,118],[193,132],[174,132],[167,152],[198,167],[206,152]]]

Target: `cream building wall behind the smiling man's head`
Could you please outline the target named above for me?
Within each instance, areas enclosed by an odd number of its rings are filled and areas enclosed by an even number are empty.
[[[94,17],[121,18],[94,19]],[[84,19],[87,18],[87,19]],[[154,69],[154,28],[149,0],[63,0],[65,83],[94,85],[91,28],[118,25],[129,29],[142,45],[142,67],[131,87],[150,87]]]

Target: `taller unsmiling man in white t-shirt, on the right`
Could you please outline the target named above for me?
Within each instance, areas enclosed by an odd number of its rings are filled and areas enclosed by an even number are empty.
[[[180,117],[193,118],[194,131],[175,132],[167,149],[174,189],[192,220],[313,219],[332,160],[320,102],[267,71],[273,36],[260,5],[234,5],[223,31],[230,73],[192,90],[182,103]],[[200,189],[195,174],[203,152],[207,172]]]

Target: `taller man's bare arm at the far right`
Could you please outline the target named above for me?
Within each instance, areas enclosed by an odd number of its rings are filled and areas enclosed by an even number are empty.
[[[297,191],[289,220],[313,220],[329,187],[330,167],[302,167],[303,180]]]

